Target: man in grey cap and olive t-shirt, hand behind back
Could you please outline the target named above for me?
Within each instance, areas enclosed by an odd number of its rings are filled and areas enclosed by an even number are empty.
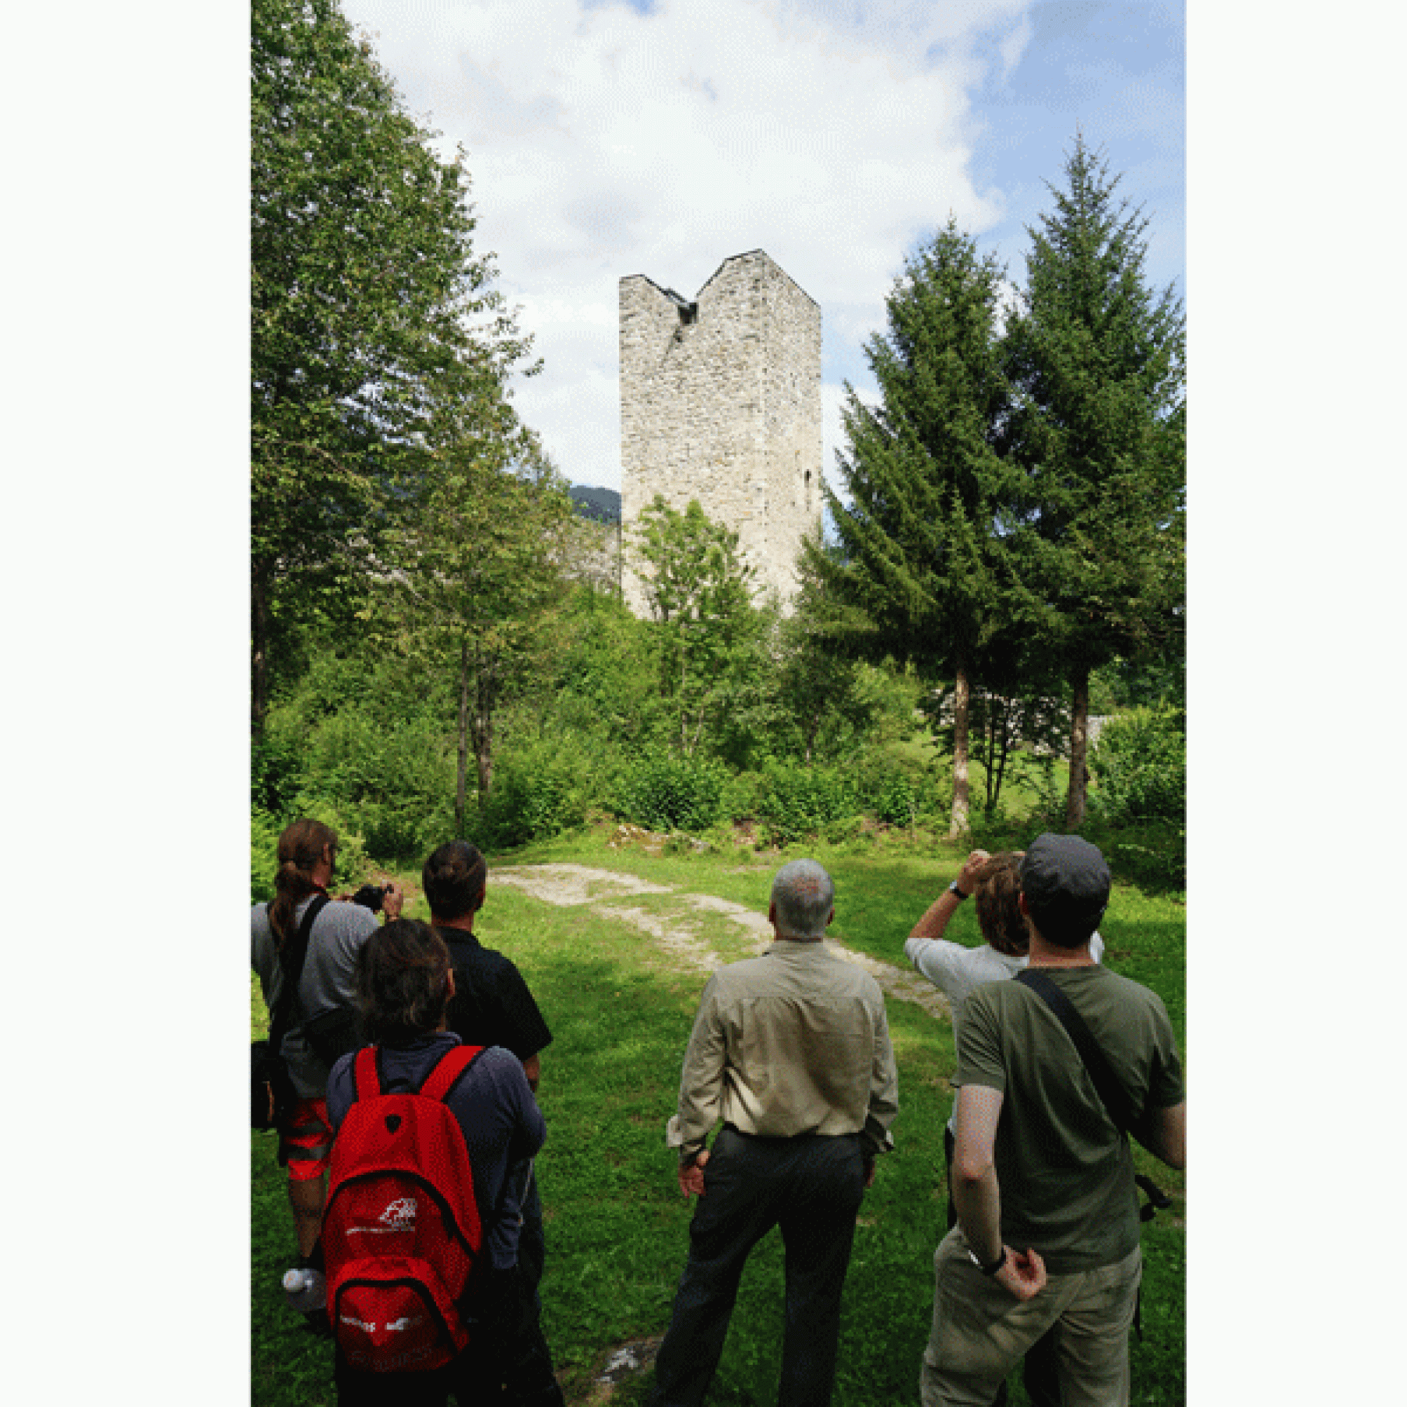
[[[1020,885],[1029,971],[1088,1027],[1134,1112],[1134,1137],[1185,1166],[1186,1099],[1168,1013],[1089,953],[1109,902],[1104,857],[1079,836],[1043,834],[1021,860]],[[1052,1325],[1067,1407],[1126,1407],[1142,1273],[1127,1135],[1065,1024],[1024,978],[967,998],[953,1083],[958,1224],[934,1255],[923,1407],[986,1407]]]

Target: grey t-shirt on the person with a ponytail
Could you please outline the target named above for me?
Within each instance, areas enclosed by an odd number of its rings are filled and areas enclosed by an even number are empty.
[[[294,913],[294,923],[303,916],[314,895],[308,895]],[[250,965],[259,975],[259,985],[269,1009],[283,988],[279,967],[279,947],[269,927],[269,905],[256,903],[249,915]],[[287,1061],[293,1088],[303,1099],[322,1099],[328,1089],[328,1067],[318,1059],[303,1038],[301,1023],[333,1007],[355,1009],[356,986],[352,972],[357,950],[376,933],[376,915],[359,903],[333,900],[312,920],[308,936],[308,957],[298,979],[298,999],[290,1017],[288,1033],[283,1038],[283,1058]]]

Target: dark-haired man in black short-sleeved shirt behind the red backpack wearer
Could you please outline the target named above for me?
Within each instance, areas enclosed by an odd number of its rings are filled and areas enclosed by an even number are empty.
[[[477,846],[452,840],[435,850],[421,870],[431,924],[449,947],[454,968],[454,995],[445,1019],[447,1030],[471,1045],[502,1045],[522,1061],[533,1093],[542,1078],[540,1052],[552,1031],[537,1010],[528,983],[512,958],[485,948],[474,936],[474,917],[488,891],[488,862]],[[495,1324],[495,1348],[502,1365],[505,1401],[512,1407],[561,1407],[561,1387],[552,1365],[552,1351],[542,1331],[542,1282],[546,1238],[542,1197],[529,1161],[516,1169],[511,1193],[521,1203],[518,1266],[508,1290],[518,1303],[502,1307]]]

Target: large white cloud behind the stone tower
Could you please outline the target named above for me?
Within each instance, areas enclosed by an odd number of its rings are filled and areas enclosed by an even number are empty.
[[[545,362],[519,408],[570,478],[612,487],[620,277],[689,297],[765,249],[822,307],[827,381],[858,381],[913,239],[1002,214],[968,174],[969,41],[1026,4],[345,0],[409,110],[467,149],[480,246]]]

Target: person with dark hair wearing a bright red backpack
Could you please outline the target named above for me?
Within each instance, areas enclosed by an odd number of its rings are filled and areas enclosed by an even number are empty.
[[[521,1061],[446,1029],[449,948],[400,919],[356,960],[363,1030],[328,1081],[322,1220],[339,1407],[476,1401],[511,1311],[521,1171],[546,1138]]]

